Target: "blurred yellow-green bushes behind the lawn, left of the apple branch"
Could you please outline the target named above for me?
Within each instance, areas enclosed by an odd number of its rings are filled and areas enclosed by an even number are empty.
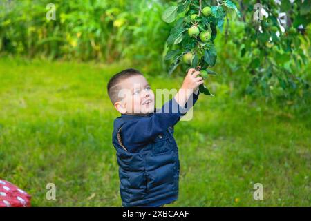
[[[4,1],[0,5],[0,51],[51,59],[130,59],[160,70],[169,26],[160,1],[53,1],[56,19],[46,19],[50,1]]]

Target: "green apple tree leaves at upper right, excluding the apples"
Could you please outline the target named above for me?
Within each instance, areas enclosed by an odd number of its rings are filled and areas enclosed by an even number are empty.
[[[256,5],[258,3],[260,5]],[[169,23],[176,20],[167,39],[169,51],[165,59],[171,61],[169,74],[180,65],[182,70],[191,67],[214,73],[210,70],[217,60],[214,41],[218,32],[223,31],[227,19],[227,26],[229,21],[243,26],[243,36],[230,35],[230,40],[236,44],[241,58],[250,58],[249,64],[244,64],[252,74],[246,93],[254,92],[254,86],[259,86],[265,96],[270,95],[275,87],[283,88],[288,94],[296,93],[299,88],[308,90],[308,81],[299,73],[308,63],[308,48],[301,47],[301,44],[302,41],[309,41],[306,28],[311,18],[310,1],[250,0],[236,1],[235,4],[227,0],[180,0],[175,4],[167,8],[162,16]],[[207,6],[211,8],[211,15],[202,15],[202,8]],[[229,17],[230,10],[238,16]],[[191,26],[198,26],[200,32],[209,32],[209,41],[202,42],[198,35],[189,36],[187,30]],[[194,57],[191,64],[185,64],[182,56],[189,52]],[[210,95],[207,88],[200,89]]]

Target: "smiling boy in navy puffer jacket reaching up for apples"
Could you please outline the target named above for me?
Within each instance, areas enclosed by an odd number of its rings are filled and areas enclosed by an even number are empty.
[[[113,123],[113,146],[122,206],[163,206],[177,200],[180,164],[173,126],[198,99],[199,74],[191,68],[178,93],[158,111],[153,90],[138,70],[122,70],[109,80],[109,98],[121,113]]]

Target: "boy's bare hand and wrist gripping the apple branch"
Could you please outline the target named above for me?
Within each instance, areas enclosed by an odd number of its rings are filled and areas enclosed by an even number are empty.
[[[182,108],[185,107],[185,104],[192,93],[198,93],[198,86],[204,83],[203,78],[198,77],[198,75],[200,75],[200,71],[196,71],[194,68],[189,69],[184,82],[182,83],[182,87],[174,97],[176,102],[182,106]]]

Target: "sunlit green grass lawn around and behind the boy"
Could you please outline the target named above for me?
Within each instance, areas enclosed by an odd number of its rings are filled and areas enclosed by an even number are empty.
[[[118,113],[106,83],[126,67],[0,59],[0,177],[28,191],[32,206],[121,206]],[[148,79],[153,89],[182,82]],[[310,115],[211,84],[216,97],[200,96],[194,118],[176,125],[180,193],[171,206],[310,206]],[[56,201],[46,200],[48,183]]]

